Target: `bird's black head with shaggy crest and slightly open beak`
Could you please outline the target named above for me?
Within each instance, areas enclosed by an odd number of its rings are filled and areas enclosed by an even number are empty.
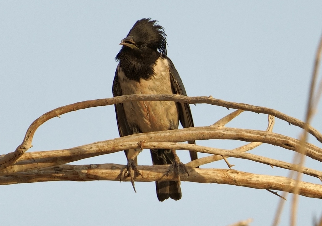
[[[122,39],[120,45],[123,45],[121,51],[133,51],[137,56],[148,56],[153,52],[159,53],[161,57],[166,57],[166,33],[164,28],[151,18],[138,20],[128,33],[128,36]]]

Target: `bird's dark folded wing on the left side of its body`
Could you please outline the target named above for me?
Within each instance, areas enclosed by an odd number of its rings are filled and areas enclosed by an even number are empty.
[[[123,95],[121,86],[118,81],[118,68],[116,69],[116,72],[115,72],[112,92],[113,92],[113,96]],[[114,106],[115,106],[115,113],[116,113],[116,121],[118,123],[118,133],[120,137],[133,134],[133,131],[128,125],[128,120],[126,119],[126,116],[125,116],[123,104],[115,104]],[[127,158],[131,157],[135,152],[134,149],[124,150],[124,151]],[[137,158],[134,159],[134,163],[137,165]]]

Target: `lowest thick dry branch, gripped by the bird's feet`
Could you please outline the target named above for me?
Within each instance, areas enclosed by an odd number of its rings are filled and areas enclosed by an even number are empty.
[[[49,167],[38,171],[16,173],[12,176],[0,176],[0,185],[32,183],[41,181],[92,181],[92,180],[120,180],[120,174],[124,165],[101,164],[101,165],[61,165]],[[160,181],[177,180],[177,176],[169,175],[167,172],[170,165],[138,166],[143,178],[136,177],[135,181]],[[181,174],[182,181],[198,183],[216,183],[244,186],[256,189],[270,189],[283,191],[285,188],[289,192],[294,191],[295,180],[283,176],[267,176],[241,172],[233,169],[202,169],[187,167],[189,176]],[[129,177],[124,177],[122,181],[130,181]],[[322,198],[322,185],[308,182],[300,182],[299,194],[312,198]]]

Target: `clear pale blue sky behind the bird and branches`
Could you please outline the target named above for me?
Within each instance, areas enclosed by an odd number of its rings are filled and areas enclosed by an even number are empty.
[[[313,59],[322,32],[322,1],[0,1],[0,154],[22,142],[41,114],[79,101],[112,97],[120,40],[144,17],[159,21],[190,96],[274,108],[303,120]],[[312,125],[322,131],[321,104]],[[232,110],[191,106],[196,126]],[[242,113],[227,126],[266,129],[267,116]],[[274,131],[300,130],[276,121]],[[29,151],[71,148],[118,137],[113,106],[85,109],[43,124]],[[316,139],[310,142],[321,147]],[[235,148],[237,141],[198,141]],[[251,153],[289,161],[293,152],[262,145]],[[188,155],[180,152],[181,160]],[[234,169],[287,176],[241,159]],[[78,162],[125,164],[124,153]],[[139,164],[151,164],[148,150]],[[321,163],[306,160],[321,170]],[[208,167],[226,168],[223,162]],[[316,178],[306,181],[321,183]],[[155,183],[46,182],[0,187],[1,225],[227,225],[253,218],[270,225],[279,198],[265,190],[182,182],[180,201],[157,201]],[[289,222],[289,201],[280,225]],[[321,200],[300,198],[298,225],[312,225]]]

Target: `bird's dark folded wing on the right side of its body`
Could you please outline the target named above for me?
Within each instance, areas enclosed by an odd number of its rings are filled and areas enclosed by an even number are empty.
[[[172,61],[167,58],[169,61],[169,70],[170,70],[170,80],[171,80],[171,86],[174,91],[174,94],[179,95],[187,95],[185,92],[185,86],[182,83],[182,80],[175,69],[175,66],[173,65]],[[177,103],[178,111],[179,111],[179,120],[181,122],[181,125],[183,128],[187,127],[194,127],[194,121],[192,120],[192,114],[190,110],[189,104],[185,103]],[[189,140],[189,144],[195,144],[194,140]],[[191,160],[197,159],[197,152],[195,151],[189,151]]]

